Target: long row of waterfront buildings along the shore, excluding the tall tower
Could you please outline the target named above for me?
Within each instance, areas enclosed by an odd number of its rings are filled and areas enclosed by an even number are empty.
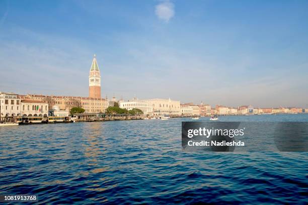
[[[68,116],[73,107],[85,109],[86,113],[105,113],[109,106],[118,103],[120,108],[126,110],[140,109],[146,116],[191,117],[211,115],[249,115],[249,114],[296,114],[308,113],[308,109],[301,108],[253,108],[240,106],[231,108],[217,105],[194,105],[193,103],[181,104],[178,100],[169,99],[142,99],[134,97],[132,100],[111,101],[98,97],[54,96],[27,94],[19,95],[9,92],[0,92],[1,117],[16,116]]]

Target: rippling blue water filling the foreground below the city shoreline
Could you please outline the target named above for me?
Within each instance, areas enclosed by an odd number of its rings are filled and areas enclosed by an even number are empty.
[[[307,153],[185,153],[181,122],[190,120],[0,127],[0,194],[38,194],[39,204],[307,203]]]

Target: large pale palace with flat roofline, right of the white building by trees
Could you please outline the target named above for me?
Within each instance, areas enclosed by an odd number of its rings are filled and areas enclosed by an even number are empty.
[[[181,106],[180,101],[169,99],[144,99],[141,100],[147,102],[149,105],[153,107],[153,115],[161,116],[161,115],[170,115],[173,117],[181,116]],[[199,110],[199,108],[198,108]]]

